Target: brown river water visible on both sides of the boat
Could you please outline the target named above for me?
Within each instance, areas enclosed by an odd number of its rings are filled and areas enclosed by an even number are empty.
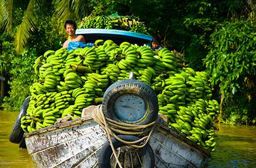
[[[9,142],[17,112],[0,111],[0,168],[34,167],[27,149]],[[206,167],[256,167],[256,127],[217,125],[217,148]]]

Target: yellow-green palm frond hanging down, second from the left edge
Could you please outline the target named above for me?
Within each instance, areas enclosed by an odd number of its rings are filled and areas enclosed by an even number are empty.
[[[27,10],[23,17],[22,23],[18,26],[14,44],[16,52],[20,53],[26,46],[27,40],[30,37],[31,32],[34,31],[37,25],[37,10],[39,10],[39,1],[30,0]]]

